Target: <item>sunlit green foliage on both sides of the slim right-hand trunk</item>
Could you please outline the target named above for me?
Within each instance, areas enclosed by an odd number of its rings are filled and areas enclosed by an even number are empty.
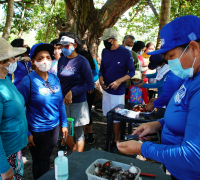
[[[137,40],[142,40],[145,43],[148,41],[156,42],[161,9],[160,0],[151,0],[158,13],[158,17],[156,17],[147,2],[148,0],[141,0],[128,13],[125,13],[115,25],[118,29],[125,28],[125,34],[139,37]],[[200,0],[171,0],[171,20],[185,15],[200,16],[199,4]]]

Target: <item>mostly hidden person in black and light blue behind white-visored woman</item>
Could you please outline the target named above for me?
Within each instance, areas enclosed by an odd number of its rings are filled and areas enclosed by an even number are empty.
[[[93,79],[94,79],[94,82],[96,82],[99,79],[99,67],[98,67],[97,61],[93,59],[90,53],[89,45],[87,41],[82,40],[82,44],[83,44],[84,50],[81,52],[81,54],[89,61],[90,67],[92,70]],[[94,139],[95,135],[92,130],[92,116],[91,116],[91,109],[92,109],[94,100],[95,100],[95,87],[91,91],[87,92],[87,102],[88,102],[88,107],[89,107],[89,112],[90,112],[90,123],[87,125],[88,135],[86,135],[85,133],[85,127],[84,127],[84,134],[85,134],[86,139],[88,138],[89,144],[93,144],[95,142],[95,139]]]

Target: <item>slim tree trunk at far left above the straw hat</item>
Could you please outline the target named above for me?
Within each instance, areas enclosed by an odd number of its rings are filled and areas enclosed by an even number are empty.
[[[6,17],[6,24],[3,30],[2,37],[8,40],[10,35],[10,29],[12,25],[12,18],[13,18],[13,9],[14,9],[14,0],[8,0],[8,9],[7,9],[7,17]]]

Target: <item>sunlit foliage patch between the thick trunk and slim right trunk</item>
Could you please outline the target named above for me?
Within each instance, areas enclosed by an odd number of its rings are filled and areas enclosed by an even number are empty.
[[[152,0],[152,3],[159,15],[160,0]],[[155,17],[147,1],[141,0],[121,17],[116,26],[125,28],[125,34],[132,34],[138,37],[136,40],[141,40],[145,43],[148,41],[155,42],[158,35],[159,18],[159,16]]]

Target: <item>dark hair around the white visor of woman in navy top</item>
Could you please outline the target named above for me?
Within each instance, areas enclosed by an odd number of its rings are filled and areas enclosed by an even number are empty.
[[[82,45],[79,37],[76,34],[71,33],[71,32],[61,32],[59,34],[59,41],[60,41],[62,36],[68,36],[68,37],[74,39],[75,43],[77,44],[75,51],[76,51],[76,53],[80,54],[80,52],[83,50],[83,45]]]

